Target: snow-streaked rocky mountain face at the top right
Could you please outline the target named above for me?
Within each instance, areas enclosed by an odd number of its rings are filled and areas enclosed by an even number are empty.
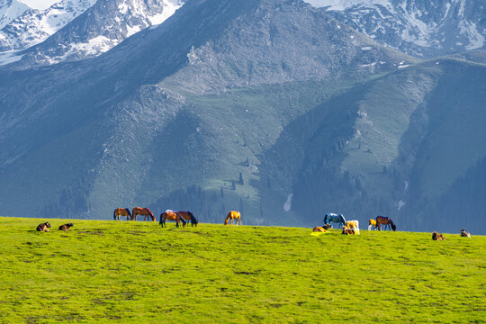
[[[309,1],[374,40],[419,58],[486,46],[483,1]]]

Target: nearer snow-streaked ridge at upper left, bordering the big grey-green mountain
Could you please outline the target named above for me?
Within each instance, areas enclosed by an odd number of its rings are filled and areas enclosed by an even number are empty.
[[[98,2],[48,40],[25,50],[22,68],[94,58],[133,34],[163,23],[183,4],[179,0]],[[0,56],[0,65],[5,62]]]

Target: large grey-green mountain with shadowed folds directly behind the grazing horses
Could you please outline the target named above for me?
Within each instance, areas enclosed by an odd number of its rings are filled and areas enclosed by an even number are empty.
[[[485,63],[419,60],[302,1],[190,0],[94,58],[0,68],[0,207],[481,230]]]

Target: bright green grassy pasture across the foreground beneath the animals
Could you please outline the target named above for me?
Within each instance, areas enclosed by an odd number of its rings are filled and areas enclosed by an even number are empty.
[[[2,323],[486,320],[486,237],[49,221],[0,218]]]

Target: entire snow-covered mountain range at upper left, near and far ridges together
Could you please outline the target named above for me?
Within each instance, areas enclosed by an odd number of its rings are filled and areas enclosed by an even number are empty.
[[[69,0],[31,9],[0,31],[0,65],[17,68],[92,58],[174,14],[179,0]]]

